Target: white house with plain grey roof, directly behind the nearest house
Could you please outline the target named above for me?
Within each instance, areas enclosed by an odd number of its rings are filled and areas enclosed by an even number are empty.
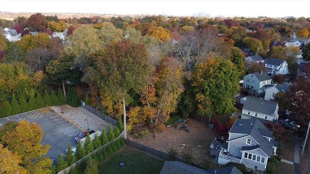
[[[279,118],[278,111],[278,102],[248,96],[242,107],[241,118],[259,118],[263,119],[263,121],[274,121]]]

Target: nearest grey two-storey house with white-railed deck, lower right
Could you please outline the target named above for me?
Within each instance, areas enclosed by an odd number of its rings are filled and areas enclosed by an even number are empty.
[[[222,165],[237,162],[265,171],[268,159],[276,154],[279,146],[273,132],[258,119],[237,119],[228,134],[228,148],[221,149],[217,161]]]

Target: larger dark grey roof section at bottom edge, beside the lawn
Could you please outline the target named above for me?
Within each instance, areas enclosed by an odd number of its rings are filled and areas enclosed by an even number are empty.
[[[180,161],[165,161],[160,174],[209,174],[197,167]]]

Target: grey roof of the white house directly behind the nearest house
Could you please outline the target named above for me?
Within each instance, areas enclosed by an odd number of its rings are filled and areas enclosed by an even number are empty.
[[[242,109],[270,116],[276,111],[277,105],[278,102],[248,96]]]

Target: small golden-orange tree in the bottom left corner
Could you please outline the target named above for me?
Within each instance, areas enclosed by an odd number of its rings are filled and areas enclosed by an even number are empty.
[[[0,173],[1,174],[28,174],[27,169],[20,166],[22,163],[21,157],[16,153],[3,147],[0,144]]]

